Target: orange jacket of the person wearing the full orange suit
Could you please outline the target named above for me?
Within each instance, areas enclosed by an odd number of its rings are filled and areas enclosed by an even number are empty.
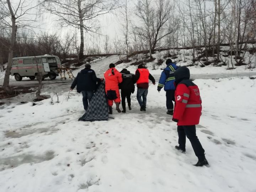
[[[119,90],[118,84],[122,82],[122,74],[116,68],[110,68],[104,73],[105,90]]]

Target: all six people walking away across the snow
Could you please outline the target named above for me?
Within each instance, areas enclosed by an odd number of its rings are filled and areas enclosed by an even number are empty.
[[[198,157],[195,166],[208,165],[204,155],[204,149],[196,135],[196,125],[202,111],[202,100],[198,86],[190,80],[190,71],[187,67],[178,67],[171,59],[166,60],[166,68],[162,71],[158,88],[160,92],[162,87],[166,91],[167,114],[172,115],[172,121],[177,122],[178,144],[175,149],[182,153],[186,152],[186,137],[190,140],[194,153]],[[109,69],[104,73],[105,92],[108,100],[108,113],[113,113],[113,102],[116,103],[118,113],[126,113],[126,99],[128,109],[131,108],[130,96],[135,91],[134,84],[137,84],[137,100],[140,105],[140,111],[146,111],[146,97],[148,95],[149,80],[155,85],[154,77],[149,73],[143,64],[138,65],[135,74],[131,74],[127,69],[118,71],[115,65],[111,63]],[[88,105],[97,84],[103,81],[103,78],[97,78],[95,71],[91,69],[90,64],[85,65],[72,83],[70,90],[76,86],[78,92],[82,92],[84,109]],[[119,89],[121,89],[121,97]],[[122,108],[120,110],[120,103]],[[175,105],[173,104],[175,102]]]

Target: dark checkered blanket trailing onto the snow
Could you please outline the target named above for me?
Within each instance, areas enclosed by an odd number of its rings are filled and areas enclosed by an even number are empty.
[[[108,104],[105,83],[100,82],[85,114],[78,121],[99,121],[108,119]]]

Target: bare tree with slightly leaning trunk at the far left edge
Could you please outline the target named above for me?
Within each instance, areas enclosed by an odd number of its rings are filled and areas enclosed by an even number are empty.
[[[35,11],[39,4],[35,5],[29,0],[20,0],[18,4],[11,3],[10,0],[0,1],[0,6],[4,7],[3,11],[8,16],[7,18],[1,19],[0,23],[10,28],[11,31],[8,64],[3,84],[3,88],[8,94],[12,93],[9,86],[9,79],[17,28],[29,28],[32,26],[32,23],[35,22],[39,16],[38,11]]]

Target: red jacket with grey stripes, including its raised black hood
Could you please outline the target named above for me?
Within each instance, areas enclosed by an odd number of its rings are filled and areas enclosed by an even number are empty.
[[[186,67],[181,67],[175,74],[177,87],[173,121],[179,126],[198,124],[202,112],[202,100],[198,86],[189,78],[189,69]]]

